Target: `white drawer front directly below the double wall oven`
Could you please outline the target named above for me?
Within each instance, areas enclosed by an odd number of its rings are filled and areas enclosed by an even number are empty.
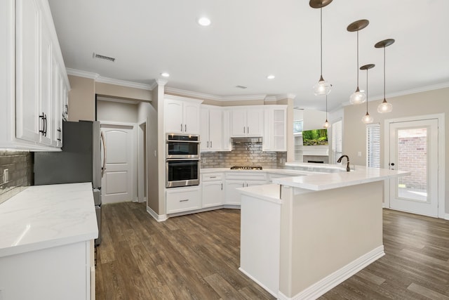
[[[199,186],[168,188],[166,190],[166,214],[200,209]]]

